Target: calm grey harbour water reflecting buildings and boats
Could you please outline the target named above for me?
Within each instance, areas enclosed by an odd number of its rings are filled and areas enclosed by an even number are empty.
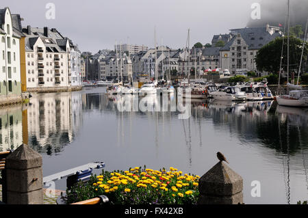
[[[92,161],[104,161],[107,170],[172,166],[202,176],[220,151],[244,179],[246,204],[308,200],[307,109],[193,101],[191,117],[179,120],[178,112],[120,112],[123,98],[104,92],[36,94],[27,106],[1,109],[0,150],[28,141],[43,156],[44,176]],[[254,180],[261,197],[251,196]],[[65,180],[56,183],[65,187]]]

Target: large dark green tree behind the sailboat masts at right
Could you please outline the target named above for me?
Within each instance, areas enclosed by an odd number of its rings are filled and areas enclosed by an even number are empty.
[[[266,71],[272,73],[279,73],[280,60],[281,60],[281,48],[283,44],[283,38],[276,38],[272,42],[263,46],[257,52],[255,62],[259,71]],[[298,70],[300,63],[300,55],[302,54],[303,40],[290,37],[290,71]],[[287,70],[287,37],[284,40],[283,46],[283,70]],[[308,45],[305,44],[303,59],[307,59]]]

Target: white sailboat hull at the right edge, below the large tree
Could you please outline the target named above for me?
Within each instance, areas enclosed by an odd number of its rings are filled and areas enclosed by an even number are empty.
[[[288,95],[276,96],[278,105],[308,107],[308,90],[292,90]]]

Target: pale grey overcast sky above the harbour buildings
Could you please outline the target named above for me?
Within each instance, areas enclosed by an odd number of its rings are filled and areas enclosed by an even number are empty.
[[[49,2],[55,4],[55,20],[45,18]],[[214,34],[246,27],[255,2],[261,0],[1,0],[0,8],[21,14],[24,27],[55,27],[81,51],[96,53],[114,49],[116,40],[154,47],[155,26],[157,44],[163,39],[164,45],[183,48],[188,28],[191,44],[205,44]]]

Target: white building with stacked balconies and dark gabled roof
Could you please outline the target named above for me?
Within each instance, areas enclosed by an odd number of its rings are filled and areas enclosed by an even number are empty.
[[[71,85],[70,42],[56,29],[23,29],[25,34],[27,89]],[[73,63],[72,63],[73,64]]]

